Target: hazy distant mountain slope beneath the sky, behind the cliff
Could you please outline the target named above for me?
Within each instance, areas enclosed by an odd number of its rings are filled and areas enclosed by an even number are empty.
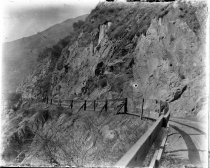
[[[3,44],[3,89],[11,92],[33,71],[38,54],[73,31],[73,23],[87,15],[68,19],[45,31]],[[23,25],[24,26],[24,25]],[[18,31],[18,30],[17,30]]]

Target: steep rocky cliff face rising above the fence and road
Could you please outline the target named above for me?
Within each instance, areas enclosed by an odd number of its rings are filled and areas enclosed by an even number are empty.
[[[42,78],[53,97],[128,97],[133,112],[142,98],[161,99],[176,116],[196,116],[205,100],[205,10],[181,1],[99,4],[52,70],[45,73],[47,57],[19,90],[35,96],[31,81]]]

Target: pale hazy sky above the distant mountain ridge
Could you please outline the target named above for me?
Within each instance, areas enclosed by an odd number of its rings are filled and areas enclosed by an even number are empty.
[[[36,34],[90,11],[102,0],[7,0],[3,12],[3,41]]]

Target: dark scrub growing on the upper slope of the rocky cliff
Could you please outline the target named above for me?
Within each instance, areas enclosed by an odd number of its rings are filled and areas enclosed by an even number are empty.
[[[124,63],[116,64],[115,67],[106,67],[106,65],[104,65],[104,68],[110,69],[112,73],[117,74],[121,72],[122,74],[131,75],[132,66],[134,65],[132,63],[133,57],[131,53],[135,49],[138,37],[146,35],[151,19],[157,17],[158,14],[162,13],[164,10],[165,7],[161,5],[156,5],[154,8],[154,5],[142,7],[138,4],[138,7],[127,7],[120,3],[118,5],[100,3],[91,11],[85,21],[79,20],[73,24],[74,31],[69,34],[68,37],[60,40],[52,48],[46,48],[39,55],[39,62],[43,61],[45,58],[50,60],[48,72],[35,84],[40,90],[40,95],[45,97],[45,95],[49,94],[50,88],[54,87],[51,81],[53,80],[52,74],[56,70],[55,67],[58,71],[61,71],[66,66],[65,72],[69,72],[68,65],[65,65],[64,59],[59,59],[65,47],[71,46],[77,41],[78,47],[80,48],[87,47],[93,43],[93,47],[99,50],[100,45],[98,45],[98,38],[100,26],[108,22],[112,24],[107,35],[108,39],[113,43],[113,52],[109,55],[109,61],[122,58]],[[87,85],[81,90],[82,95],[89,95],[95,88],[104,88],[107,86],[107,81],[110,81],[103,73],[100,75],[96,74],[96,76],[98,77],[91,77],[94,80],[89,79],[86,82]],[[65,78],[65,74],[63,74],[63,78]],[[91,86],[92,89],[89,86]],[[117,89],[117,92],[121,92],[121,90],[122,88]]]

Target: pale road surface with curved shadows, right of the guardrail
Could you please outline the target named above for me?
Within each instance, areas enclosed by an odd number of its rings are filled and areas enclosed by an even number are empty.
[[[207,167],[208,136],[206,124],[179,118],[170,118],[165,156],[180,160],[184,165]]]

